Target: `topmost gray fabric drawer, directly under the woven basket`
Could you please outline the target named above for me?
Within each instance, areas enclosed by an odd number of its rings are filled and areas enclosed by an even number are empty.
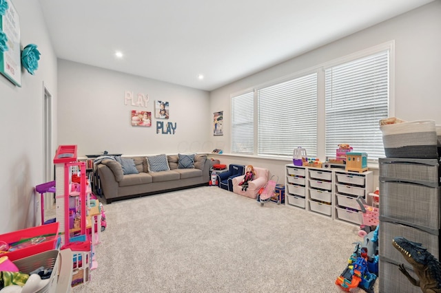
[[[440,185],[440,165],[437,159],[381,158],[380,181],[404,181],[431,187]]]

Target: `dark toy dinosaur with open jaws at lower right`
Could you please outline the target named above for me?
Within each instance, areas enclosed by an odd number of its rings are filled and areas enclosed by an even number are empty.
[[[413,272],[420,279],[413,279],[404,268],[404,264],[398,265],[412,285],[420,286],[424,293],[441,293],[441,263],[426,248],[423,248],[421,243],[409,241],[404,237],[395,237],[392,245],[412,265]]]

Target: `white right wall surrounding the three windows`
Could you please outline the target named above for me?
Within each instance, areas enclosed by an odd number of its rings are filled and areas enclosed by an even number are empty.
[[[437,124],[441,124],[441,1],[433,1],[212,91],[212,111],[224,111],[224,135],[221,138],[212,138],[213,144],[225,153],[231,151],[231,94],[392,40],[395,41],[395,88],[391,93],[395,96],[395,104],[391,105],[392,111],[395,116],[404,120],[435,120]],[[283,165],[291,163],[291,160],[276,161],[229,155],[215,157],[224,164],[267,166],[271,174],[280,178],[284,178]],[[319,158],[325,159],[325,155]]]

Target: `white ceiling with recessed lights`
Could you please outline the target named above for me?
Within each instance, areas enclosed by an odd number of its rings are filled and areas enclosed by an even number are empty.
[[[58,58],[206,91],[431,1],[39,0]]]

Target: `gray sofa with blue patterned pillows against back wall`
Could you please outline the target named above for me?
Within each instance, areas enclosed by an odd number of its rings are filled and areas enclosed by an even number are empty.
[[[207,185],[207,155],[191,156],[166,155],[163,160],[167,162],[160,164],[155,161],[158,156],[116,157],[117,160],[104,158],[95,162],[95,169],[99,175],[101,191],[107,204],[110,204],[116,199]],[[193,162],[189,158],[193,158]]]

